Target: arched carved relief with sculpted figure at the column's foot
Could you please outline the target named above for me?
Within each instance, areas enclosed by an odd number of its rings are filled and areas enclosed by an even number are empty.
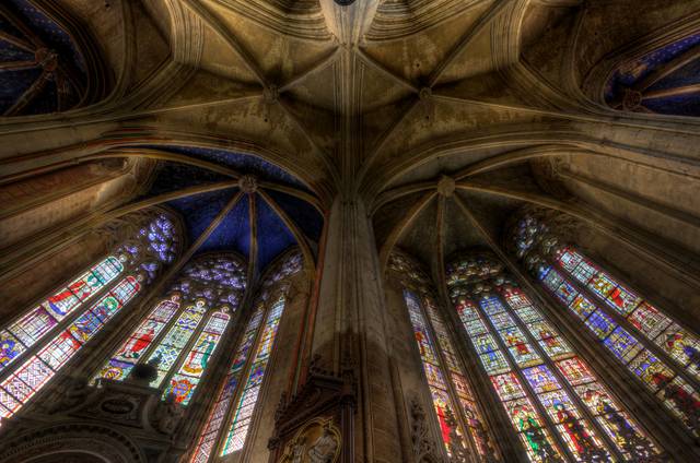
[[[284,448],[281,463],[336,463],[342,437],[331,418],[317,417],[296,431]]]

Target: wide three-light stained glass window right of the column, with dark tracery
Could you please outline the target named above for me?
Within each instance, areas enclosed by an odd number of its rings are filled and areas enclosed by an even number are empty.
[[[656,456],[629,412],[500,262],[466,254],[447,275],[471,348],[532,461]]]

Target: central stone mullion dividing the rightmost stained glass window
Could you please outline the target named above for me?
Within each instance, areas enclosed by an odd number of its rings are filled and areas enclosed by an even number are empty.
[[[567,275],[567,280],[569,281],[569,283],[573,287],[576,288],[576,290],[579,290],[583,296],[586,296],[588,298],[588,300],[596,301],[597,302],[596,304],[596,308],[598,310],[600,310],[606,316],[610,317],[612,319],[612,321],[615,321],[619,327],[623,328],[629,333],[632,333],[634,335],[634,337],[637,339],[637,341],[644,348],[650,351],[656,357],[662,359],[666,365],[668,365],[668,367],[672,370],[674,370],[676,376],[680,376],[685,381],[687,381],[689,384],[691,384],[696,389],[696,391],[700,391],[700,385],[699,385],[698,381],[695,378],[690,377],[685,371],[684,367],[679,367],[677,361],[675,359],[673,359],[670,356],[668,356],[668,354],[666,354],[661,347],[658,347],[656,344],[654,344],[652,341],[650,341],[649,337],[646,337],[646,335],[644,335],[639,330],[637,330],[637,328],[634,328],[627,320],[627,318],[622,317],[621,314],[619,314],[614,309],[610,309],[608,307],[607,302],[602,297],[597,296],[595,293],[590,290],[585,285],[582,285],[581,282],[579,282],[579,280],[576,280],[567,270],[564,270],[561,265],[559,265],[559,263],[556,260],[551,259],[549,256],[544,256],[544,258],[553,269],[557,269],[557,270],[559,270],[559,272],[561,272],[564,275]],[[610,336],[610,334],[608,334],[606,336],[606,339],[608,336]],[[598,340],[598,342],[602,342],[602,340]],[[629,365],[641,353],[637,354],[632,359],[630,359],[630,361],[627,361],[626,365]]]

